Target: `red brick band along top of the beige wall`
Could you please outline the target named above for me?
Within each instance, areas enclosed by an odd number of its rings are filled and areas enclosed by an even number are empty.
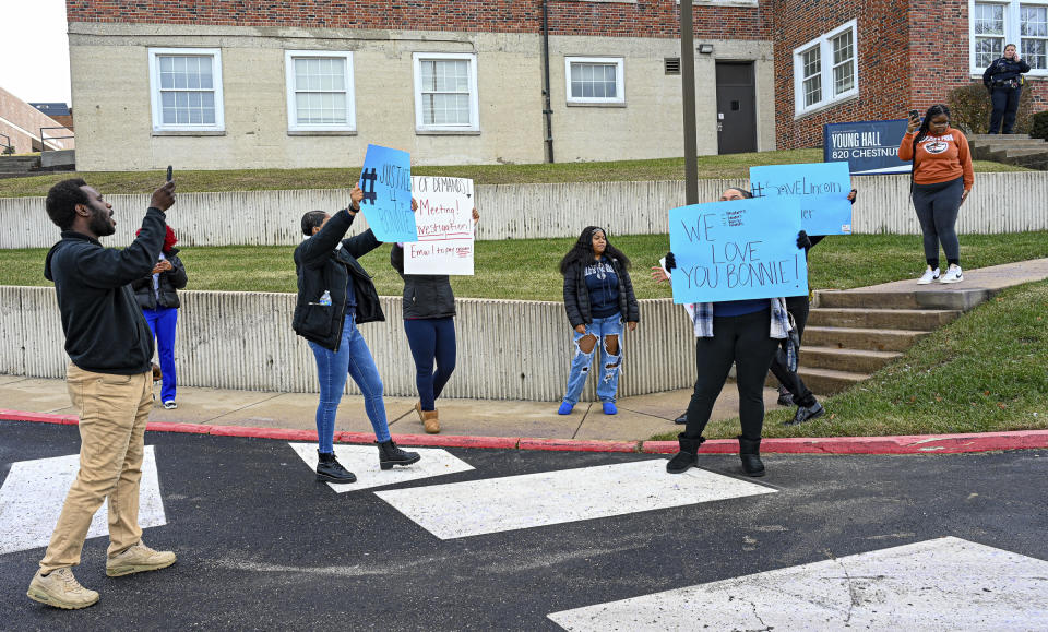
[[[538,33],[541,0],[67,0],[69,22],[222,24],[312,28],[393,28],[488,33]],[[719,39],[767,39],[763,7],[696,7],[698,35]],[[549,2],[550,33],[614,37],[679,37],[674,0],[635,4]]]

